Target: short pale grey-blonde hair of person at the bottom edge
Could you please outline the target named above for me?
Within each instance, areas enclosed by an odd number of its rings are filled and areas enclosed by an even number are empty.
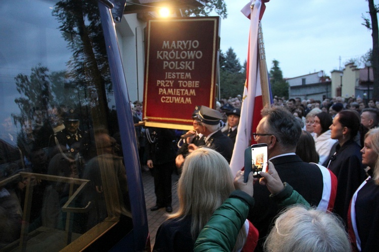
[[[330,212],[290,207],[279,215],[264,250],[275,251],[351,251],[350,240],[341,219]]]

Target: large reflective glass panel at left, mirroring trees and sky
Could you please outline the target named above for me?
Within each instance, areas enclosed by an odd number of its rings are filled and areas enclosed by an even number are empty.
[[[131,230],[97,1],[0,4],[0,250]]]

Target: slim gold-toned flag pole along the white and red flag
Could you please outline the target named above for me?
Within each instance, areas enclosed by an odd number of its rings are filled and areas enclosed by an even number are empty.
[[[262,102],[263,107],[267,104],[271,104],[270,90],[268,85],[267,64],[266,64],[266,52],[264,50],[262,24],[259,20],[258,25],[258,61],[259,61],[259,75],[261,79],[262,89]]]

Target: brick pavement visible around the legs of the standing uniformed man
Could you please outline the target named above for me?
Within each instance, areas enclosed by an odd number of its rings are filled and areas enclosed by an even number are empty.
[[[176,181],[179,176],[173,172],[172,173],[172,209],[173,212],[177,211],[179,208],[178,197],[176,193]],[[142,173],[142,181],[144,184],[144,192],[145,192],[145,201],[146,201],[146,209],[148,215],[148,225],[150,232],[150,243],[151,248],[153,249],[155,243],[155,236],[157,234],[157,230],[159,226],[166,220],[167,213],[165,208],[161,208],[157,211],[150,211],[151,207],[155,206],[155,194],[154,194],[154,178],[151,175],[150,171],[144,171]]]

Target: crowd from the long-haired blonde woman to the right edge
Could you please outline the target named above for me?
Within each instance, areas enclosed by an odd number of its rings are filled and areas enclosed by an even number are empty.
[[[275,97],[262,110],[254,133],[257,143],[268,146],[269,171],[247,184],[239,181],[243,171],[234,174],[236,191],[227,189],[228,199],[218,187],[218,173],[230,174],[218,168],[230,161],[225,148],[232,150],[235,139],[231,145],[209,140],[221,132],[231,139],[241,100],[218,101],[216,109],[196,107],[194,130],[187,132],[175,160],[182,169],[179,210],[159,228],[153,250],[375,250],[379,110],[375,100],[370,107],[362,103],[359,98],[318,102]],[[226,163],[213,163],[218,159]]]

